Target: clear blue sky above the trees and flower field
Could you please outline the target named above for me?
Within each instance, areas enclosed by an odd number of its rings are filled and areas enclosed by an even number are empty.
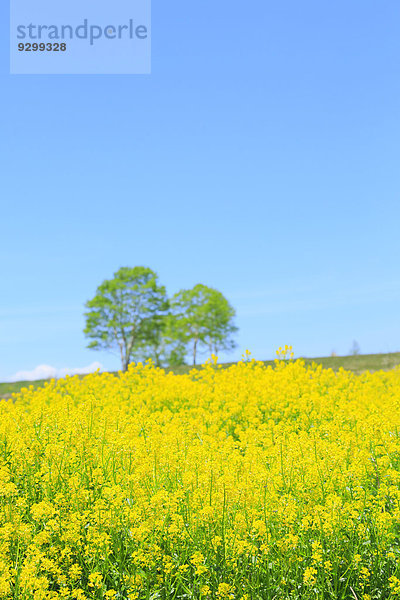
[[[237,310],[239,358],[400,350],[400,5],[152,5],[152,75],[8,74],[0,380],[83,367],[120,266]]]

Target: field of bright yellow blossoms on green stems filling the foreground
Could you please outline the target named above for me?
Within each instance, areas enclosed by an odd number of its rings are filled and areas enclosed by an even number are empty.
[[[400,596],[400,369],[151,364],[0,401],[0,598]]]

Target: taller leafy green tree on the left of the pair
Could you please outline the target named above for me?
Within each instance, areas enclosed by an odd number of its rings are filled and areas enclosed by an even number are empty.
[[[86,303],[85,335],[89,348],[117,351],[126,370],[160,337],[168,311],[165,287],[146,267],[122,267],[103,281]]]

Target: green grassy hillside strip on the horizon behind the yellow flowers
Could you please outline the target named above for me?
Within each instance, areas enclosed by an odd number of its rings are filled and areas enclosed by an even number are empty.
[[[363,371],[379,371],[393,369],[400,365],[400,352],[392,352],[390,354],[358,354],[356,356],[323,356],[317,358],[304,358],[307,364],[313,362],[321,364],[326,369],[337,371],[341,367],[354,373],[362,373]],[[223,363],[223,367],[229,367],[234,363]],[[273,365],[273,360],[264,361],[265,365]],[[200,369],[201,366],[196,368]],[[184,366],[173,369],[175,373],[187,373],[193,369],[192,366]],[[16,383],[0,383],[0,398],[10,398],[15,392],[19,392],[24,387],[33,386],[40,387],[44,384],[41,381],[18,381]]]

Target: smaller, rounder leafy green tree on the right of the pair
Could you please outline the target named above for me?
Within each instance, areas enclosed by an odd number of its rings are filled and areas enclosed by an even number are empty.
[[[200,283],[191,290],[181,290],[171,300],[171,311],[171,335],[181,351],[185,348],[191,353],[194,365],[204,349],[217,354],[235,347],[231,338],[237,331],[235,311],[218,290]]]

